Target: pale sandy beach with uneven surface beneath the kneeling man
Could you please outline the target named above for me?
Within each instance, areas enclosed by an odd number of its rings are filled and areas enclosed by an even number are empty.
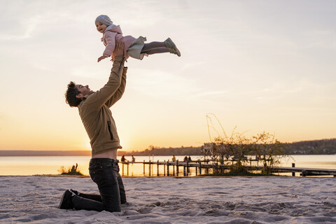
[[[335,223],[336,179],[124,177],[121,212],[57,209],[90,177],[0,176],[0,223]]]

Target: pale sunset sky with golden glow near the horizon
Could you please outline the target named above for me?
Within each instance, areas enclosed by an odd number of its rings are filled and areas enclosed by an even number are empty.
[[[207,115],[227,134],[285,142],[336,137],[336,1],[0,0],[0,150],[90,150],[70,80],[99,90],[112,63],[94,26],[172,38],[181,57],[128,59],[111,111],[126,151],[209,142]],[[212,115],[210,137],[223,134]]]

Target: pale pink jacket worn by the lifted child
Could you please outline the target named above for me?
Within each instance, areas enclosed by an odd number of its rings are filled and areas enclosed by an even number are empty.
[[[102,41],[104,45],[106,45],[106,48],[103,52],[103,55],[106,57],[110,57],[114,51],[114,48],[116,48],[116,45],[119,41],[123,41],[125,44],[124,48],[124,55],[129,56],[127,54],[128,48],[130,48],[130,45],[134,43],[134,41],[137,40],[133,36],[123,36],[123,32],[120,29],[120,26],[116,25],[109,25],[104,31]]]

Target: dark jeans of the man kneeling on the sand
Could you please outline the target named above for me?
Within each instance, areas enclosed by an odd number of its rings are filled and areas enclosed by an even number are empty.
[[[92,181],[97,183],[100,195],[75,195],[72,198],[73,207],[78,210],[120,211],[120,204],[126,203],[126,194],[118,160],[91,159],[89,172]]]

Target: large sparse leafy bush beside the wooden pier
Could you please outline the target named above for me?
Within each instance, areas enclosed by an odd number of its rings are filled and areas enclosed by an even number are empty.
[[[253,167],[262,166],[261,174],[271,174],[272,167],[280,165],[281,158],[286,157],[286,144],[275,139],[274,135],[262,132],[251,138],[244,134],[232,132],[228,137],[214,138],[214,142],[204,144],[202,148],[204,160],[224,165],[217,166],[214,174],[249,174],[255,173]],[[247,169],[248,167],[248,169]]]

